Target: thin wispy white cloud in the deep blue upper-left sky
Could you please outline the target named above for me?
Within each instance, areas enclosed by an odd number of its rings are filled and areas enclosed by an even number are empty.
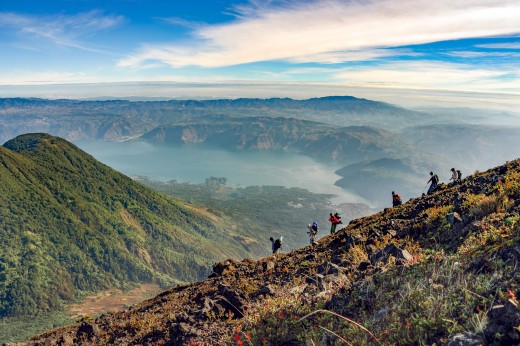
[[[122,16],[106,16],[90,11],[73,16],[30,16],[0,12],[0,27],[17,31],[23,36],[47,39],[56,45],[97,51],[80,42],[79,38],[119,25]]]

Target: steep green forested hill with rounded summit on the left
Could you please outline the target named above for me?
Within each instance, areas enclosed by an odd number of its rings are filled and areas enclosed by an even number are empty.
[[[108,287],[201,279],[216,260],[250,253],[214,215],[47,134],[0,147],[0,180],[2,317],[55,311]]]

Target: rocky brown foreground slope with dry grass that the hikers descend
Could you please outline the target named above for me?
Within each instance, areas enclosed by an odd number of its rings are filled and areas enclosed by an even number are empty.
[[[520,343],[520,161],[23,345]]]

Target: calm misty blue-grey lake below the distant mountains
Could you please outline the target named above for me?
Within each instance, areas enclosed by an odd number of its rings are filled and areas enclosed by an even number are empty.
[[[334,185],[339,166],[324,165],[292,153],[229,152],[215,148],[154,146],[144,142],[78,141],[75,144],[104,164],[126,174],[154,180],[202,183],[226,177],[230,186],[279,185],[337,195],[334,203],[362,202]]]

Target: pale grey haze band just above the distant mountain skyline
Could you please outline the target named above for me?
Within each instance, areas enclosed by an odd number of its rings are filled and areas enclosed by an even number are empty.
[[[0,97],[78,100],[211,100],[237,98],[309,99],[326,96],[354,96],[403,108],[477,108],[518,113],[520,97],[507,93],[455,92],[443,90],[400,90],[393,88],[352,88],[334,85],[248,84],[248,83],[87,83],[52,85],[1,85]]]

